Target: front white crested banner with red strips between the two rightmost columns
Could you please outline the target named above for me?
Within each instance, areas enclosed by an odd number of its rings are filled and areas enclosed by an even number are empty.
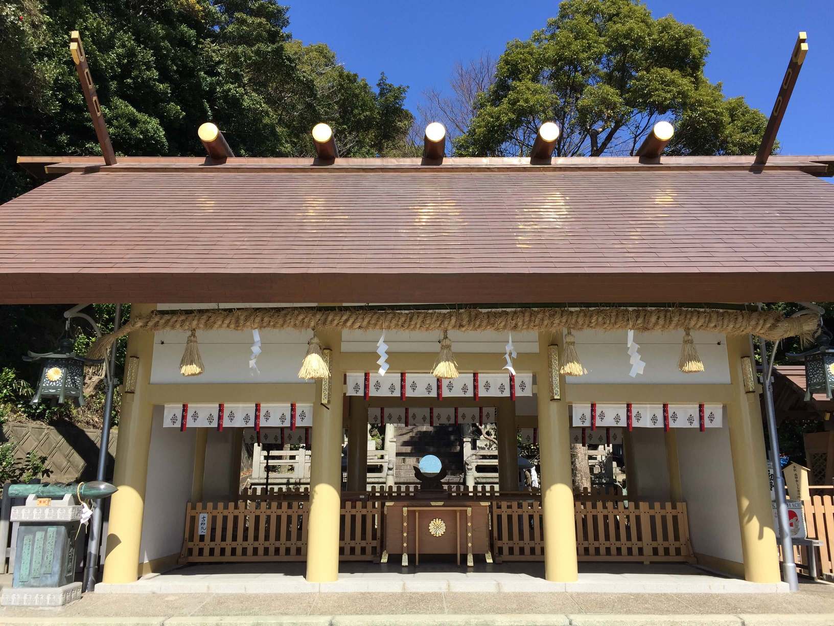
[[[596,430],[605,427],[631,428],[721,428],[721,404],[571,404],[570,425]],[[631,416],[631,420],[629,417]],[[629,423],[631,422],[631,423]]]

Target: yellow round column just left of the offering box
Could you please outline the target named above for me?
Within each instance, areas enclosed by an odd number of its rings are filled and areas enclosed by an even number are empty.
[[[341,331],[319,331],[323,348],[329,348],[330,404],[323,406],[321,382],[315,384],[313,453],[310,458],[310,512],[307,533],[307,580],[329,583],[339,577],[339,515],[342,483]]]

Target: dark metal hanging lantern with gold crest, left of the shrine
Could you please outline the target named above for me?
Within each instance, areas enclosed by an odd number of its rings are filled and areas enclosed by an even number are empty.
[[[43,399],[52,399],[63,404],[67,398],[76,406],[84,404],[84,366],[103,363],[103,359],[88,359],[73,352],[73,340],[65,338],[58,344],[58,351],[38,354],[28,352],[23,361],[41,363],[41,376],[38,379],[38,391],[32,398],[32,404]]]

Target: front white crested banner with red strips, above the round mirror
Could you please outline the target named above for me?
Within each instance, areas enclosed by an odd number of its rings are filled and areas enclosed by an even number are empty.
[[[533,375],[528,374],[461,374],[456,378],[438,380],[431,374],[398,374],[388,372],[353,372],[346,376],[347,395],[365,397],[510,397],[532,396]],[[403,388],[404,384],[404,388]]]

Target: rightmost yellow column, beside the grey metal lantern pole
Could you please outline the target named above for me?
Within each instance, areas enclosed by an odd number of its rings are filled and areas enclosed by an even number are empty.
[[[745,393],[741,357],[751,356],[747,336],[727,337],[733,400],[727,404],[730,450],[736,478],[736,504],[741,527],[744,578],[753,583],[778,583],[779,558],[770,487],[767,484],[765,436],[756,393]]]

